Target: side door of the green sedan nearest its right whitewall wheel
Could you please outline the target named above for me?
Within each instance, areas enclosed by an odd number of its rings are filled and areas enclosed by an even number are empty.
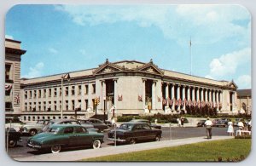
[[[78,146],[88,146],[92,143],[92,135],[82,126],[77,126],[74,130],[74,134],[77,135],[76,140]]]

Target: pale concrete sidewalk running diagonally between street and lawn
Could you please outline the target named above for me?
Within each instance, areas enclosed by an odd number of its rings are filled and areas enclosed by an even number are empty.
[[[32,157],[16,157],[17,161],[78,161],[84,158],[101,157],[107,155],[120,154],[125,152],[138,152],[149,149],[157,149],[161,147],[181,146],[185,144],[193,144],[197,142],[212,141],[212,140],[226,140],[231,139],[230,136],[213,136],[211,140],[207,140],[206,137],[195,137],[178,140],[161,140],[147,143],[138,143],[135,145],[125,146],[108,146],[101,149],[86,149],[71,152],[60,152],[56,154],[42,154]]]

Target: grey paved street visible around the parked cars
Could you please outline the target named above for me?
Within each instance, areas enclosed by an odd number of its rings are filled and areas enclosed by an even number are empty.
[[[212,129],[212,135],[218,135],[218,136],[224,136],[227,135],[226,133],[227,128],[213,128]],[[201,137],[206,135],[205,128],[195,128],[195,127],[186,127],[186,128],[177,128],[172,127],[171,130],[168,127],[162,128],[163,134],[162,134],[162,141],[163,140],[177,140],[177,139],[185,139],[185,138],[191,138],[191,137]],[[171,132],[170,132],[171,131]],[[104,132],[104,143],[102,144],[102,148],[114,146],[113,141],[108,140],[108,132]],[[44,153],[49,152],[38,152],[36,150],[33,150],[31,148],[26,147],[26,140],[27,136],[22,137],[22,142],[18,143],[18,146],[15,148],[9,148],[9,155],[12,158],[15,157],[29,157],[29,156],[36,156]],[[138,143],[138,144],[145,144],[145,143]],[[122,145],[124,146],[124,145]],[[84,150],[86,148],[80,148],[80,149],[68,149],[65,151],[78,151],[78,150]],[[90,148],[88,148],[89,150]]]

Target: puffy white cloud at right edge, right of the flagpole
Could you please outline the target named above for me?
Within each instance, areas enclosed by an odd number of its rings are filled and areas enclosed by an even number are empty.
[[[250,63],[251,49],[241,49],[229,54],[223,54],[218,59],[213,59],[210,63],[209,76],[221,78],[236,73],[237,67]]]

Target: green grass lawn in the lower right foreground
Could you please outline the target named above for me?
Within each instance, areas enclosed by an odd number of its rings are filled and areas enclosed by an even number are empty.
[[[251,139],[214,140],[202,143],[166,147],[141,152],[129,152],[105,157],[93,157],[83,161],[102,162],[198,162],[227,161],[247,157],[251,151]],[[228,160],[229,161],[229,160]]]

